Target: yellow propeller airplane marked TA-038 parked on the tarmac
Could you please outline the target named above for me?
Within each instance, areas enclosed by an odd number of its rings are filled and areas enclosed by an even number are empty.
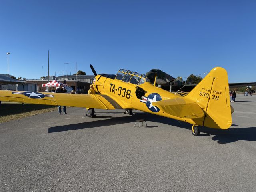
[[[93,87],[97,94],[60,94],[22,91],[0,91],[0,100],[46,105],[65,105],[97,109],[125,109],[129,114],[140,110],[198,126],[228,129],[232,125],[228,74],[216,67],[188,94],[172,93],[151,84],[144,74],[120,69],[116,75],[95,74]],[[155,82],[156,84],[156,82]]]

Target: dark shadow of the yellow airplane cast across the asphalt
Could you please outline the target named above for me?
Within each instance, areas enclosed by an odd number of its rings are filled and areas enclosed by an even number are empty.
[[[95,118],[106,118],[106,117],[108,118],[112,117],[112,118],[78,123],[78,124],[50,127],[48,128],[48,133],[62,132],[62,131],[69,131],[69,130],[79,130],[79,129],[86,129],[86,128],[95,128],[95,127],[104,127],[104,126],[111,126],[111,125],[117,125],[117,124],[121,125],[121,124],[131,123],[131,122],[135,123],[136,119],[145,119],[145,120],[148,120],[149,122],[150,121],[158,122],[158,123],[167,124],[170,126],[177,126],[180,128],[191,130],[191,125],[186,122],[180,122],[170,118],[156,116],[154,114],[148,114],[144,112],[139,112],[132,116],[122,116],[122,117],[97,116],[97,115],[98,114],[96,114]],[[157,127],[157,126],[151,126],[149,122],[148,122],[147,128]],[[239,126],[233,125],[232,127],[239,127]],[[142,127],[142,128],[146,128],[146,127]],[[200,127],[199,136],[211,136],[211,135],[213,136],[212,140],[217,141],[220,144],[232,143],[238,140],[256,141],[256,127],[229,128],[227,130]]]

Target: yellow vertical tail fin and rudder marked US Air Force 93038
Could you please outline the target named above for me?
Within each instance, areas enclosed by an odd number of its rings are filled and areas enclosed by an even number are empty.
[[[230,128],[232,124],[228,74],[216,67],[188,94],[204,110],[203,126],[218,129]]]

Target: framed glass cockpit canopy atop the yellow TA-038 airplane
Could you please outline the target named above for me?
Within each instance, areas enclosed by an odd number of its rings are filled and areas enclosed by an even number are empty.
[[[116,79],[122,82],[131,83],[134,85],[140,85],[145,82],[150,82],[146,75],[137,72],[129,71],[126,69],[120,69],[116,74]]]

